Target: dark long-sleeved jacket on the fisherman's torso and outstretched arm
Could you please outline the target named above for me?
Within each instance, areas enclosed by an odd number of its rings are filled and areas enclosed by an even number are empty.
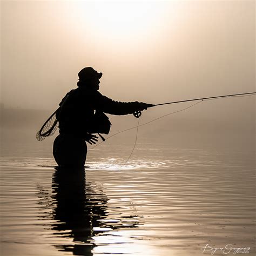
[[[59,133],[81,138],[89,131],[96,110],[116,115],[140,110],[139,102],[116,102],[86,86],[68,92],[59,105],[62,105],[57,117]]]

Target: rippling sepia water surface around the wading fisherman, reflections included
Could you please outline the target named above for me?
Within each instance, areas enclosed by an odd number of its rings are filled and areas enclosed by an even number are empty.
[[[254,255],[253,150],[106,143],[67,172],[40,146],[3,142],[2,255]]]

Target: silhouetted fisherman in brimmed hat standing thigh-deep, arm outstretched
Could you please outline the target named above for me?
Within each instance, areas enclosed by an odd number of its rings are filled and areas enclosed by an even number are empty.
[[[86,142],[95,144],[98,141],[93,133],[109,133],[111,123],[104,113],[132,114],[152,106],[142,102],[117,102],[103,96],[98,91],[102,73],[91,67],[79,71],[78,77],[78,88],[66,94],[56,114],[59,135],[53,143],[53,156],[58,166],[66,168],[84,166]]]

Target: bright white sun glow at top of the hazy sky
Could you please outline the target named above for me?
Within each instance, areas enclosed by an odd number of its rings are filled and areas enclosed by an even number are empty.
[[[80,23],[93,36],[132,39],[155,33],[170,25],[180,4],[173,2],[82,2],[78,3]],[[168,21],[168,22],[167,22]]]

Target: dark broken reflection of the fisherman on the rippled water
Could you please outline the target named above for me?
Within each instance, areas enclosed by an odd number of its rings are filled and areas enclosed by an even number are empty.
[[[85,181],[84,169],[56,168],[52,175],[51,196],[40,187],[38,197],[41,199],[39,204],[49,212],[48,218],[55,220],[51,225],[52,234],[56,238],[72,239],[63,244],[58,240],[54,246],[59,251],[93,255],[92,250],[98,244],[126,242],[116,239],[111,233],[105,238],[104,232],[133,228],[139,224],[138,215],[116,214],[115,219],[108,218],[108,199],[99,186]]]

